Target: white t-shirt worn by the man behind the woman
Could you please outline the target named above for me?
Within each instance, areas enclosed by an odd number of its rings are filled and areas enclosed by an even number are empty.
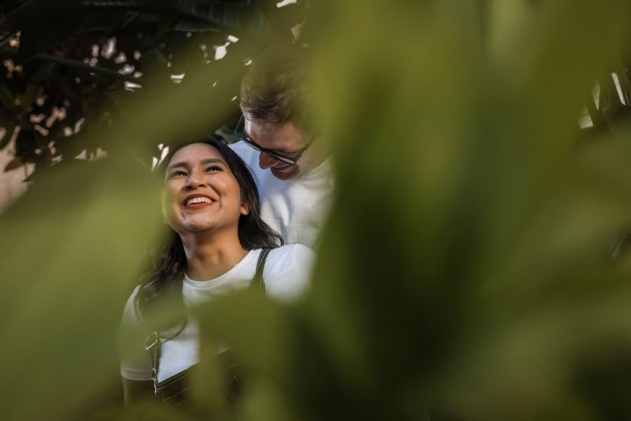
[[[261,216],[287,244],[304,244],[318,250],[320,227],[333,194],[331,159],[294,180],[279,180],[269,168],[261,169],[256,149],[244,142],[230,145],[255,175],[261,199]]]

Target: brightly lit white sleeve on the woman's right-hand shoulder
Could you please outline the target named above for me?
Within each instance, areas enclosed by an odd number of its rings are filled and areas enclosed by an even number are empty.
[[[291,244],[271,250],[263,279],[267,294],[280,301],[295,301],[311,280],[315,253],[302,244]]]

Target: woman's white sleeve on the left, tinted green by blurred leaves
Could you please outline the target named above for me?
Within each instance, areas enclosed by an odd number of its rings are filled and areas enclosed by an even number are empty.
[[[151,360],[147,349],[145,349],[147,332],[142,326],[134,300],[139,289],[140,286],[137,286],[123,310],[118,340],[121,375],[128,380],[151,380]]]

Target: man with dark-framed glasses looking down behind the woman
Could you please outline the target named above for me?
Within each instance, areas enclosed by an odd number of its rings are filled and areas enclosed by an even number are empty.
[[[318,247],[332,196],[325,142],[311,126],[303,52],[268,51],[241,84],[243,112],[231,145],[255,175],[262,216],[286,243]]]

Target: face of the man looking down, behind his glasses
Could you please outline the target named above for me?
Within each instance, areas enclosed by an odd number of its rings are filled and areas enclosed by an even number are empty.
[[[296,156],[310,140],[310,136],[293,123],[278,124],[269,127],[256,120],[245,119],[245,134],[260,147],[287,156]],[[259,154],[259,166],[269,168],[274,177],[280,180],[292,180],[308,173],[320,164],[315,148],[309,147],[296,165],[279,161],[266,152]]]

